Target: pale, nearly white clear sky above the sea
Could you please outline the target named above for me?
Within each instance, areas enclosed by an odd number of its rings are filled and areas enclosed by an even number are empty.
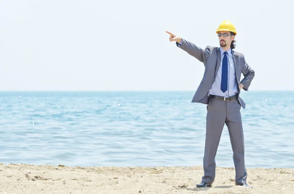
[[[224,20],[250,89],[294,90],[293,19],[289,0],[0,0],[0,90],[196,90],[204,65],[166,31],[219,46]]]

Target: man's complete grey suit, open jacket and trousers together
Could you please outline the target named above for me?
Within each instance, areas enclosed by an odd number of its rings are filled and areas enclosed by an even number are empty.
[[[203,62],[205,66],[203,78],[192,99],[193,103],[203,103],[207,105],[205,151],[203,157],[204,176],[202,177],[202,181],[207,184],[212,184],[214,182],[216,170],[215,156],[223,126],[226,124],[233,150],[236,185],[242,185],[246,183],[247,172],[245,168],[244,135],[240,109],[241,107],[245,108],[245,102],[239,96],[239,87],[237,92],[238,98],[235,100],[221,101],[210,98],[208,92],[216,79],[221,64],[220,48],[207,46],[205,49],[202,49],[196,44],[190,43],[184,39],[182,39],[180,48],[200,62]],[[241,83],[244,85],[243,89],[248,90],[255,72],[247,65],[243,54],[233,50],[232,54],[237,86]],[[242,81],[240,81],[241,74],[244,75]]]

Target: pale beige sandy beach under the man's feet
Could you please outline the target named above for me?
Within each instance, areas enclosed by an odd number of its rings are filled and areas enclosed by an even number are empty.
[[[68,167],[0,163],[0,194],[294,194],[294,169],[247,169],[235,186],[235,169],[217,167],[210,188],[196,188],[196,167]],[[5,193],[6,192],[6,193]]]

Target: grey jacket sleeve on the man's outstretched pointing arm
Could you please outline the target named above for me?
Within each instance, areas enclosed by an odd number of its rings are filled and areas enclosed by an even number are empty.
[[[186,51],[189,55],[198,59],[200,62],[204,62],[210,55],[210,48],[208,46],[205,49],[202,49],[196,44],[184,39],[182,39],[180,43],[176,43],[176,45]]]

